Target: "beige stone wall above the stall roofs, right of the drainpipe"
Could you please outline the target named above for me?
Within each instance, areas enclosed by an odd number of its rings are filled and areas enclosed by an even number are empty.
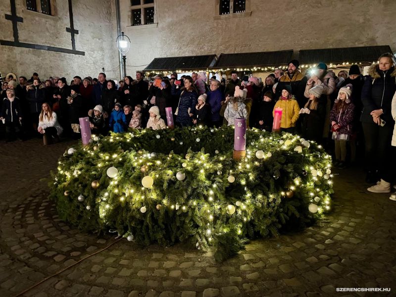
[[[132,40],[129,73],[166,56],[376,45],[396,50],[394,0],[247,0],[247,17],[214,17],[219,0],[155,0],[157,26],[131,26],[130,0],[120,1],[122,30]]]

